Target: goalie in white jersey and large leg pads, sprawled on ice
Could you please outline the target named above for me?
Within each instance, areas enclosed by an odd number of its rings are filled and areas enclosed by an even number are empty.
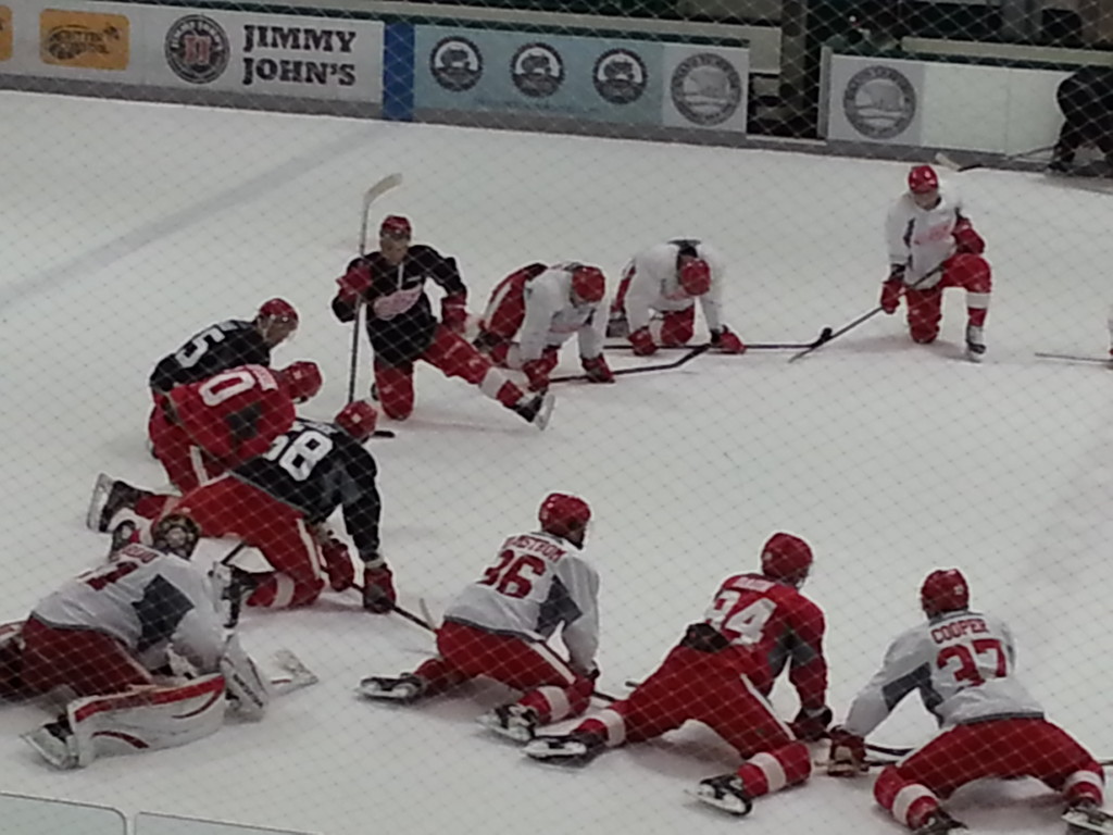
[[[0,642],[0,692],[68,700],[57,720],[23,737],[51,765],[200,739],[224,723],[226,697],[234,714],[263,717],[269,685],[225,638],[209,579],[188,561],[199,536],[191,520],[166,517],[151,547],[124,546]],[[171,652],[193,677],[162,676]]]

